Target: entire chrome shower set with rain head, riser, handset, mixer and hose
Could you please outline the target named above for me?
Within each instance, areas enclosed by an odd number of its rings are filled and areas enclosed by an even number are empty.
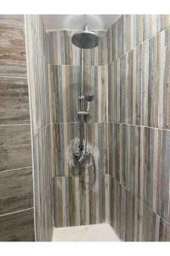
[[[88,149],[88,113],[90,111],[90,104],[94,101],[94,95],[87,94],[84,91],[84,49],[94,49],[99,45],[99,37],[94,34],[94,32],[88,31],[88,26],[84,26],[84,30],[82,32],[77,32],[73,34],[71,37],[71,42],[78,48],[82,49],[82,60],[81,60],[81,95],[78,97],[79,109],[77,109],[77,115],[80,116],[80,143],[78,151],[73,152],[73,158],[75,163],[75,168],[78,168],[79,174],[83,174],[80,172],[79,168],[82,167],[83,164],[86,164],[86,160],[90,161],[94,167],[94,179],[92,182],[88,182],[88,184],[93,184],[95,182],[95,160],[94,154]],[[85,132],[84,131],[85,124]],[[84,139],[84,143],[83,143]],[[83,177],[83,175],[82,175]],[[82,180],[85,182],[85,179]],[[86,182],[87,183],[87,182]]]

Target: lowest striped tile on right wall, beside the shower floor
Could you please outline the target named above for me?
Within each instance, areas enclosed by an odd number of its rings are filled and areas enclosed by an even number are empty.
[[[169,241],[169,224],[111,177],[111,225],[123,241]]]

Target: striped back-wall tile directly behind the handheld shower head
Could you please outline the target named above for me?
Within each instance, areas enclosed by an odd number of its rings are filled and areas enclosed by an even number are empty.
[[[78,97],[81,95],[81,69],[77,66],[50,66],[50,98],[52,122],[77,122],[80,109]],[[84,68],[86,94],[94,95],[88,115],[88,122],[104,123],[106,119],[107,67]],[[87,108],[87,102],[85,102]],[[58,109],[58,111],[56,111]]]

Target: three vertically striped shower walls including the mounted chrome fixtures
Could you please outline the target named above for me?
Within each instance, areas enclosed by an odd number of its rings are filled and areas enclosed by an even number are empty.
[[[37,241],[102,223],[122,241],[170,241],[169,26],[119,15],[46,32],[26,15]]]

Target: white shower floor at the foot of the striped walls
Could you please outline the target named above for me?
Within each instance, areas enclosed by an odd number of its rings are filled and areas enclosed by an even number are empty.
[[[110,224],[54,228],[53,241],[120,241]]]

